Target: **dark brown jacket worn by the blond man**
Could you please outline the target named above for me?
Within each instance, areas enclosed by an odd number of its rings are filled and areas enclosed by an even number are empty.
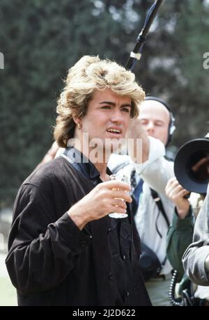
[[[131,223],[117,219],[115,230],[106,216],[80,231],[66,213],[93,187],[63,157],[22,184],[6,259],[19,305],[150,305],[132,217]]]

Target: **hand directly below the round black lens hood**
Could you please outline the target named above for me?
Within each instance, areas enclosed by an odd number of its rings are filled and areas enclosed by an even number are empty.
[[[178,217],[184,219],[188,214],[190,206],[189,200],[184,197],[189,194],[189,191],[178,183],[176,177],[172,177],[167,183],[165,192],[169,199],[176,205]]]

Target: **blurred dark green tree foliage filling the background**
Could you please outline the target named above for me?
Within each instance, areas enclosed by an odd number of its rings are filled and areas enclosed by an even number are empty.
[[[56,99],[66,72],[84,54],[125,65],[144,24],[148,0],[1,0],[0,207],[52,143]],[[155,19],[134,69],[147,94],[167,99],[180,146],[208,131],[208,1],[170,0]]]

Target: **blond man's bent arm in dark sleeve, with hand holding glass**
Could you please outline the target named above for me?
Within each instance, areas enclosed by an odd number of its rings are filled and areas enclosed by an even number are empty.
[[[56,212],[53,186],[42,171],[38,177],[37,185],[24,184],[17,195],[8,242],[6,266],[13,285],[22,294],[59,285],[91,243],[86,223],[112,211],[125,213],[121,198],[132,201],[127,184],[104,182],[57,218],[62,213]],[[114,188],[121,190],[112,191]],[[68,199],[69,204],[73,199]]]

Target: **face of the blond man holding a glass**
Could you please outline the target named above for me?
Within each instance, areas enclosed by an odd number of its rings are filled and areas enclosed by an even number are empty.
[[[110,89],[96,90],[88,104],[88,111],[82,118],[82,132],[88,133],[89,141],[99,138],[125,138],[130,124],[131,99],[116,95]]]

